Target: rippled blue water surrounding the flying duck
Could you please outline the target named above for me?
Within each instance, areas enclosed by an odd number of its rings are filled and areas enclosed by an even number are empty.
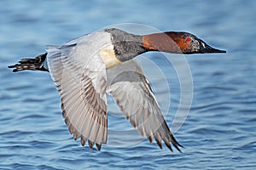
[[[255,16],[256,1],[242,0],[0,1],[0,169],[255,169]],[[228,52],[140,56],[158,66],[144,64],[143,70],[170,127],[181,94],[177,73],[166,59],[174,62],[180,56],[189,65],[183,75],[193,79],[192,104],[175,132],[183,153],[160,150],[147,140],[125,143],[130,137],[123,133],[132,128],[117,116],[111,99],[108,144],[101,151],[82,147],[68,133],[49,74],[14,74],[7,68],[44,53],[45,45],[123,23],[189,31]]]

